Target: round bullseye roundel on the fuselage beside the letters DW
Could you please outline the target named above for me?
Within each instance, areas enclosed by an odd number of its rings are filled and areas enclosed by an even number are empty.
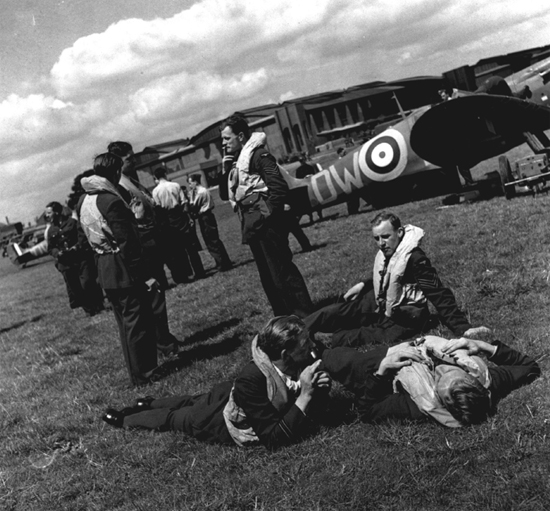
[[[407,144],[403,135],[388,129],[369,140],[359,151],[359,168],[373,181],[391,181],[407,166]]]

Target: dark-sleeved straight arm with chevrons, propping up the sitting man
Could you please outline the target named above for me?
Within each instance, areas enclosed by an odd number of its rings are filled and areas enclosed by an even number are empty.
[[[414,280],[424,296],[434,305],[443,323],[455,335],[462,335],[472,327],[464,313],[458,308],[453,292],[444,287],[436,269],[421,249],[411,253],[409,264]]]

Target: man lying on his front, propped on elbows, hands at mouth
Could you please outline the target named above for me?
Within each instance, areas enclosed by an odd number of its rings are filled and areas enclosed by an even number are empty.
[[[183,431],[211,443],[274,449],[295,443],[315,426],[308,410],[331,387],[315,361],[315,346],[296,316],[271,319],[252,341],[252,358],[235,381],[206,394],[138,399],[103,420],[115,427]]]

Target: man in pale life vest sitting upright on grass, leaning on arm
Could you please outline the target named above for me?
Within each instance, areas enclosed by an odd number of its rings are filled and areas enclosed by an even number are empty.
[[[429,319],[428,300],[453,334],[471,337],[489,331],[473,328],[452,291],[441,283],[420,248],[422,229],[402,226],[393,213],[380,213],[371,223],[379,248],[372,280],[350,288],[343,302],[307,317],[312,332],[333,333],[333,346],[392,344],[423,330]]]

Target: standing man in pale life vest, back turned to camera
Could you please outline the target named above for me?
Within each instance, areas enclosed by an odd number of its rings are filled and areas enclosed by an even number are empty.
[[[122,160],[112,153],[94,160],[94,175],[82,179],[78,205],[82,229],[97,254],[99,284],[113,306],[126,367],[133,385],[152,381],[157,367],[157,332],[138,226],[117,187]]]

